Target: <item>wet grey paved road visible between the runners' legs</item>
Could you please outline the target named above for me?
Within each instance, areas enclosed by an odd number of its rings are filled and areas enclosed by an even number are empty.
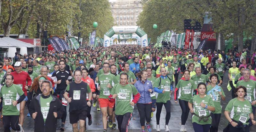
[[[221,102],[221,106],[223,107],[222,109],[222,115],[221,115],[221,119],[220,119],[220,125],[219,125],[219,131],[222,131],[223,128],[225,128],[228,124],[228,121],[226,120],[225,116],[224,116],[224,109],[226,107],[226,105],[228,104],[228,101],[231,99],[231,92],[228,92],[227,90],[227,83],[228,83],[228,71],[225,72],[224,74],[224,83],[221,85],[221,87],[223,88],[225,95],[226,95],[226,101],[222,101]],[[25,113],[28,113],[28,109],[26,107],[25,109]],[[101,112],[96,111],[96,107],[92,107],[92,125],[91,126],[87,126],[87,131],[88,132],[102,132],[103,131],[103,126],[102,126],[102,114]],[[151,127],[153,128],[153,132],[156,132],[156,112],[154,112],[154,117],[151,118]],[[171,132],[179,132],[180,130],[180,125],[181,125],[181,109],[180,109],[180,105],[179,104],[175,104],[173,102],[173,95],[172,95],[172,100],[171,100],[171,119],[169,122],[169,128],[171,130]],[[192,126],[192,122],[191,122],[191,114],[188,115],[188,121],[186,123],[186,128],[188,130],[188,132],[193,132],[193,126]],[[255,119],[255,118],[254,118]],[[88,121],[88,120],[87,120]],[[72,126],[69,123],[69,114],[67,116],[67,121],[66,121],[66,131],[72,131]],[[57,124],[57,130],[60,128],[60,124],[61,124],[61,120],[58,120],[58,124]],[[164,124],[165,124],[165,108],[163,107],[162,109],[162,114],[161,114],[161,118],[160,118],[160,128],[161,128],[161,132],[164,132]],[[134,111],[133,111],[133,116],[132,116],[132,121],[129,125],[129,131],[130,132],[139,132],[141,130],[140,128],[140,117],[139,117],[139,113],[137,110],[137,107],[134,107]],[[26,132],[33,132],[34,131],[34,121],[32,120],[31,117],[25,117],[25,121],[24,121],[24,130]],[[252,126],[250,128],[251,131],[255,131],[256,132],[256,126]],[[2,121],[0,121],[0,131],[3,131],[3,123]],[[108,129],[108,132],[118,132],[118,129],[112,130],[112,129]]]

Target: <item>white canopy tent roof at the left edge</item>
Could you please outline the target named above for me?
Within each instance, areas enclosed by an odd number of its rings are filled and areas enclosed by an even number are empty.
[[[10,37],[4,37],[0,38],[0,48],[21,48],[21,47],[27,47],[27,48],[33,48],[34,46],[30,43],[26,43],[20,40],[16,40]]]

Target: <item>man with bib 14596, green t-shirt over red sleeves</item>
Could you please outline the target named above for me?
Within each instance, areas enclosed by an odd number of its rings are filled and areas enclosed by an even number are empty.
[[[128,83],[126,73],[120,74],[120,83],[115,84],[108,98],[110,102],[116,100],[116,119],[119,131],[127,131],[127,127],[132,117],[134,104],[140,99],[140,93],[137,89]]]

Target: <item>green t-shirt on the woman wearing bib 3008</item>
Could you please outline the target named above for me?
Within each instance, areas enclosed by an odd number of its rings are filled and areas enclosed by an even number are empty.
[[[189,99],[189,103],[193,104],[193,109],[194,109],[194,113],[197,114],[198,116],[209,116],[211,114],[211,111],[209,111],[208,109],[205,109],[203,107],[200,106],[200,103],[203,102],[204,104],[206,104],[207,106],[212,106],[214,107],[214,103],[212,101],[212,98],[209,95],[204,96],[204,98],[201,98],[199,96],[199,94],[194,95],[191,99]],[[192,123],[196,122],[197,124],[200,125],[205,125],[205,124],[211,124],[212,123],[212,118],[209,117],[208,121],[198,121],[199,117],[193,115],[192,116]]]

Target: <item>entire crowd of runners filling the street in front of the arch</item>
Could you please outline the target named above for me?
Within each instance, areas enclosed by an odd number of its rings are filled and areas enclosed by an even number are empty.
[[[182,111],[182,132],[187,131],[189,113],[196,132],[217,132],[225,94],[233,99],[224,106],[229,123],[223,131],[249,132],[256,124],[256,52],[246,49],[239,53],[233,47],[225,53],[113,45],[38,55],[15,53],[13,59],[3,61],[0,102],[4,132],[24,131],[25,115],[34,119],[36,132],[56,131],[58,119],[60,130],[65,131],[67,112],[73,131],[84,132],[93,122],[92,107],[102,113],[103,132],[116,126],[127,132],[137,109],[142,132],[160,131],[160,125],[170,131],[172,94]],[[228,78],[223,78],[225,71]],[[228,80],[227,87],[221,87],[223,80]],[[160,124],[163,105],[165,124]],[[29,113],[24,113],[25,107]],[[156,128],[151,128],[154,111]]]

